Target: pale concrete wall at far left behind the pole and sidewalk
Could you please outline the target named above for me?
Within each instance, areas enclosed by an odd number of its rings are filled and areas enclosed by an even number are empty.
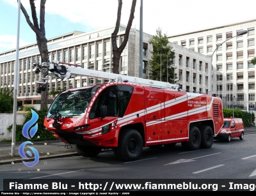
[[[24,114],[17,114],[16,124],[23,124]],[[13,124],[13,114],[0,113],[0,141],[3,139],[12,139],[12,132],[7,130],[8,126]]]

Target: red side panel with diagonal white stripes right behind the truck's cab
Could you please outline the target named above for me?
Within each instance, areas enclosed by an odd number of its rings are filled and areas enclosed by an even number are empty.
[[[146,144],[161,144],[164,93],[150,92],[146,100]]]

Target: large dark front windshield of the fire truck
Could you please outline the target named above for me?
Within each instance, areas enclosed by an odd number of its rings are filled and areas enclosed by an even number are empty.
[[[81,117],[84,115],[90,100],[100,86],[85,87],[63,91],[52,103],[47,112],[48,118],[60,113],[61,117]]]

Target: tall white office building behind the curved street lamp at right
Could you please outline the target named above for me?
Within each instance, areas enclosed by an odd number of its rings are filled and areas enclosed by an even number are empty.
[[[251,63],[255,57],[255,27],[256,19],[246,20],[170,35],[168,40],[212,57],[212,94],[223,99],[224,107],[255,110],[255,66]],[[248,33],[236,36],[243,30]]]

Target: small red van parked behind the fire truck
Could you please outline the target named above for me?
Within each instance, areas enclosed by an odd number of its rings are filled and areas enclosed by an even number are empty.
[[[244,123],[243,119],[236,117],[225,117],[224,125],[221,128],[218,135],[214,137],[215,140],[230,140],[234,137],[239,137],[239,139],[244,139]]]

